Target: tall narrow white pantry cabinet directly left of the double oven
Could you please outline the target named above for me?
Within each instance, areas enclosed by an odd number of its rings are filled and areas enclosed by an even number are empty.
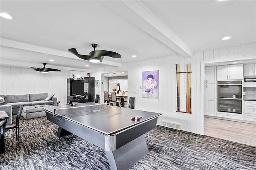
[[[216,66],[205,68],[204,114],[216,116]]]

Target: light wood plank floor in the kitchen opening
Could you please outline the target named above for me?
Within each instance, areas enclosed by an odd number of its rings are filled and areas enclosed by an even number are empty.
[[[204,135],[256,146],[256,124],[204,118]]]

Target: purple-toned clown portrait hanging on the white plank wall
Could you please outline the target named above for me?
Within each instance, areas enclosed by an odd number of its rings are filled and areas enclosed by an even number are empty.
[[[142,98],[158,98],[158,70],[142,72]]]

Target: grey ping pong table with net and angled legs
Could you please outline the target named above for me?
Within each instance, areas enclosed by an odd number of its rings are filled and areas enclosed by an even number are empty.
[[[58,137],[72,133],[104,149],[112,170],[129,169],[148,153],[144,134],[156,127],[161,115],[92,102],[44,110],[47,119],[59,126]]]

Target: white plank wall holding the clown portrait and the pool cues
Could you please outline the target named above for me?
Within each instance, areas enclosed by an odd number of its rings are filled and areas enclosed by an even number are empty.
[[[128,71],[128,98],[135,97],[136,109],[163,113],[158,118],[159,125],[162,125],[162,120],[166,120],[182,124],[182,130],[184,131],[204,134],[204,114],[200,111],[203,106],[201,96],[204,96],[204,91],[201,90],[201,86],[204,85],[201,83],[201,62],[220,62],[222,60],[256,56],[255,49],[256,43],[252,43],[196,52],[193,58],[183,58],[182,56],[156,58],[154,60],[123,64],[120,68],[104,67],[100,71],[92,69],[90,73],[92,77],[101,78],[103,73]],[[186,71],[186,64],[188,63],[191,63],[192,67],[192,114],[176,112],[175,64],[180,65],[180,71]],[[151,70],[159,70],[159,98],[142,98],[140,90],[140,86],[142,86],[142,72]],[[186,81],[184,79],[185,77],[181,80],[181,88],[184,89],[181,92],[181,96],[186,95]],[[103,89],[98,89],[98,92],[103,96]],[[101,98],[102,101],[103,98]],[[184,101],[184,97],[181,98],[181,101]],[[181,106],[183,107],[181,110],[185,110],[185,103],[182,103]]]

